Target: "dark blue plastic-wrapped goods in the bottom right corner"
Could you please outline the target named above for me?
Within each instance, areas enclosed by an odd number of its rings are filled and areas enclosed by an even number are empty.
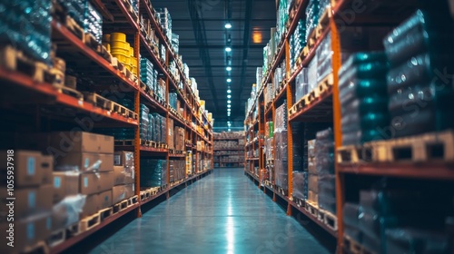
[[[449,238],[439,231],[403,228],[386,230],[386,253],[449,253]]]

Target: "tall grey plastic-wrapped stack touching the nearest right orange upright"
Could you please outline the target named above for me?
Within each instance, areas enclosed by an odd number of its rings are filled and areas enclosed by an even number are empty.
[[[319,208],[336,214],[336,175],[334,174],[334,134],[331,129],[317,132],[316,170],[319,177]]]

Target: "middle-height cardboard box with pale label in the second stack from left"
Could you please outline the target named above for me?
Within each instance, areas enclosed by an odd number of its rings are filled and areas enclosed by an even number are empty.
[[[80,175],[79,193],[91,195],[114,186],[114,171],[93,173],[87,172]]]

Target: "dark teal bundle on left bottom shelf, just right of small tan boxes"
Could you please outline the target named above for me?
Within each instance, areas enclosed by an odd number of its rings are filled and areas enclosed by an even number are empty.
[[[167,184],[167,161],[141,159],[141,187],[160,187]]]

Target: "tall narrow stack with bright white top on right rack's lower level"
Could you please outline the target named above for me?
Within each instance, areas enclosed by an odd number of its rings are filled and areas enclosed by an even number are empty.
[[[283,190],[288,190],[288,153],[287,153],[287,101],[284,101],[280,107],[276,109],[276,117],[274,122],[274,170],[276,175],[276,185]]]

